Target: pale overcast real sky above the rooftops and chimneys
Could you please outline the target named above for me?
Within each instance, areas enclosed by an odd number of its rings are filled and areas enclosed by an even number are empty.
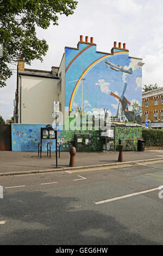
[[[162,0],[78,0],[72,16],[60,16],[59,26],[46,31],[37,29],[49,50],[43,62],[35,60],[26,68],[51,70],[59,66],[64,47],[77,47],[79,36],[93,36],[97,51],[110,53],[113,42],[126,42],[129,56],[143,58],[143,84],[163,86],[163,2]],[[16,68],[16,66],[15,66]],[[0,115],[13,115],[16,89],[15,74],[7,87],[0,88]]]

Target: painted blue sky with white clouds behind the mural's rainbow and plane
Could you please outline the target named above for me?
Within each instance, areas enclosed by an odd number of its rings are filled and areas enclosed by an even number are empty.
[[[93,54],[92,57],[88,53],[90,52],[87,52],[86,59],[79,56],[78,59],[74,61],[73,66],[66,73],[66,81],[78,79],[78,76],[80,76],[82,73],[82,66],[84,65],[85,70],[86,67],[90,65],[90,59],[94,58],[96,54],[91,52],[90,54]],[[98,56],[98,58],[99,57],[101,56]],[[124,82],[127,83],[125,93],[127,100],[131,102],[131,105],[134,101],[137,103],[139,102],[141,105],[141,68],[137,65],[137,62],[140,60],[134,59],[134,62],[131,62],[130,58],[128,58],[128,54],[111,56],[106,59],[111,63],[126,67],[126,69],[129,69],[130,66],[133,67],[133,74],[126,74],[124,72],[112,70],[106,66],[104,63],[105,60],[102,60],[93,66],[93,68],[84,77],[86,87],[89,89],[88,91],[84,86],[84,111],[94,112],[97,109],[108,108],[112,115],[116,115],[118,100],[114,96],[111,96],[110,93],[112,92],[118,96],[121,96]],[[74,69],[76,72],[74,72]],[[70,102],[71,93],[75,85],[76,82],[66,84],[67,105]],[[82,106],[82,82],[80,82],[76,96],[74,97],[73,109],[75,109],[78,105]]]

